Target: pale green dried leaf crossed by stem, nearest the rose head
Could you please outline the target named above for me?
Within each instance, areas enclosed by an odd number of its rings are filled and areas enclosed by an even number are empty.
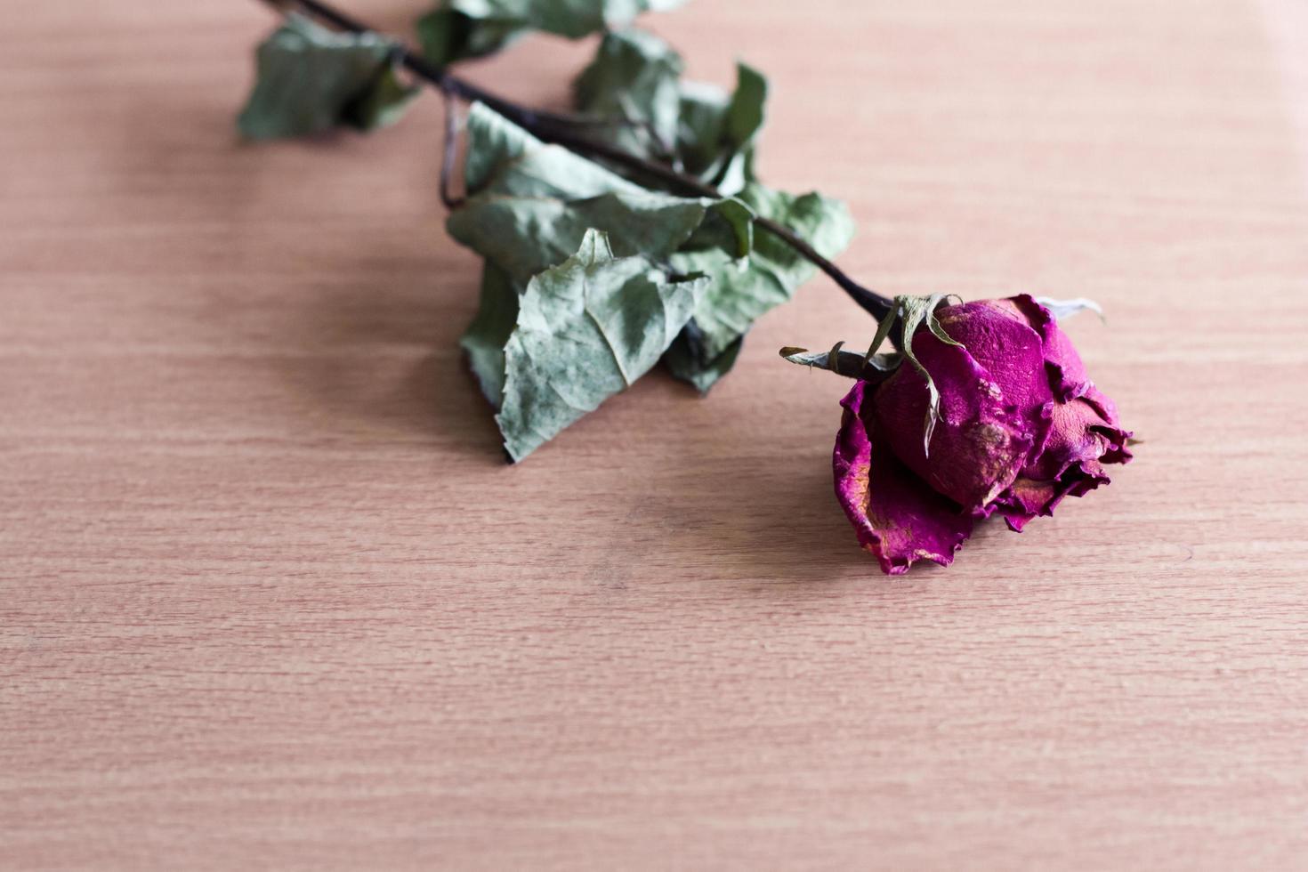
[[[751,184],[740,197],[757,214],[773,218],[807,241],[825,258],[844,251],[854,234],[845,205],[818,193],[794,196]],[[722,251],[680,251],[671,258],[681,275],[702,273],[713,278],[695,311],[697,333],[688,337],[689,360],[723,374],[730,366],[712,365],[740,340],[768,310],[789,301],[795,289],[816,272],[810,261],[766,230],[757,230],[747,259]],[[680,367],[684,371],[684,367]],[[700,379],[712,380],[705,375]]]

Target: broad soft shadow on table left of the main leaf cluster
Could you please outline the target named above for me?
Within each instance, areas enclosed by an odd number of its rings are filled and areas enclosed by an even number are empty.
[[[133,190],[141,208],[205,227],[187,239],[184,268],[212,343],[255,349],[233,365],[275,379],[281,413],[310,435],[501,465],[493,412],[458,348],[476,306],[475,259],[445,241],[434,192],[429,210],[399,193],[381,205],[361,196],[378,178],[403,183],[403,166],[370,167],[404,145],[382,152],[353,135],[246,143],[230,97],[141,93],[120,111],[128,157],[106,173],[129,187],[149,167],[158,190]]]

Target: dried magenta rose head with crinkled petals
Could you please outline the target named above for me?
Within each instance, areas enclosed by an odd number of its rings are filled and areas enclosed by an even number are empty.
[[[917,328],[921,318],[906,322],[914,365],[880,383],[861,378],[841,403],[836,495],[892,575],[918,560],[947,566],[980,518],[999,514],[1020,531],[1063,497],[1108,484],[1105,464],[1131,458],[1112,400],[1032,297],[934,315],[931,327],[955,344]],[[934,424],[926,439],[923,421]]]

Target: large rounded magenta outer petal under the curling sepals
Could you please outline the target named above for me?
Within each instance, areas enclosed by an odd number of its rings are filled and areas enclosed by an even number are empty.
[[[878,391],[878,429],[931,488],[984,515],[1048,434],[1053,394],[1044,346],[1005,301],[950,306],[938,318],[967,348],[947,345],[925,329],[913,337],[913,350],[940,392],[930,455],[922,444],[926,382],[909,365]]]

